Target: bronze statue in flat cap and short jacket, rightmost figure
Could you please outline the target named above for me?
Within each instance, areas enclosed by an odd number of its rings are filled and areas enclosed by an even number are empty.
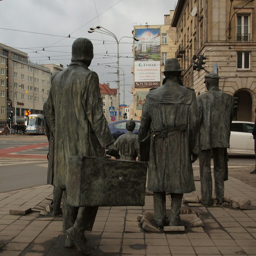
[[[204,205],[212,204],[211,150],[218,204],[222,204],[224,197],[224,174],[227,168],[226,148],[229,148],[233,97],[219,89],[219,78],[217,74],[207,74],[205,84],[208,92],[197,97],[202,149],[199,155],[201,202]]]

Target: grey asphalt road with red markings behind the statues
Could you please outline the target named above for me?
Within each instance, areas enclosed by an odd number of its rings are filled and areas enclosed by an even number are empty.
[[[28,134],[0,136],[0,192],[45,185],[47,153],[46,136]],[[255,157],[229,156],[228,166],[231,176],[238,175],[236,170],[241,167],[246,174],[249,174],[255,168]],[[198,160],[193,164],[193,168],[197,173]],[[240,176],[244,174],[241,172]],[[248,179],[251,177],[252,174],[248,175]]]

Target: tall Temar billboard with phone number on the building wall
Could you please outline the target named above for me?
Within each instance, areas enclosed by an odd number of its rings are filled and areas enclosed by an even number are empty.
[[[160,28],[135,29],[134,82],[136,88],[160,86]]]

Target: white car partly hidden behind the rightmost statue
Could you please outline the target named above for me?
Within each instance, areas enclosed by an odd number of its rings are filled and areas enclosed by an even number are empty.
[[[232,121],[228,154],[255,154],[253,126],[253,122]]]

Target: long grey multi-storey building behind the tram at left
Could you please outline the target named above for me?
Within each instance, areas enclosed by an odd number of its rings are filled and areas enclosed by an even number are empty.
[[[28,54],[4,44],[0,44],[0,63],[0,122],[10,126],[23,123],[25,110],[42,114],[50,92],[50,69],[30,62]]]

